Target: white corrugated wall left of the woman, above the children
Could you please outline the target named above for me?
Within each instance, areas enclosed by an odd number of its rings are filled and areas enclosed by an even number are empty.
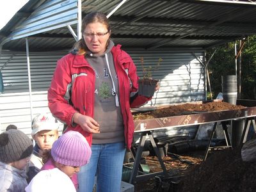
[[[67,52],[29,53],[32,87],[32,115],[50,113],[47,106],[47,89],[51,84],[56,61]],[[28,66],[26,53],[3,52],[0,60],[4,92],[0,93],[1,131],[9,124],[31,133],[31,106],[29,97]],[[60,124],[60,132],[63,125]]]

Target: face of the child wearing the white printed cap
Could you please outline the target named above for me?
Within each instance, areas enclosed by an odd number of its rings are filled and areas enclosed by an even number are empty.
[[[52,148],[52,143],[58,139],[58,130],[43,130],[36,132],[33,139],[36,141],[38,147],[43,151]]]

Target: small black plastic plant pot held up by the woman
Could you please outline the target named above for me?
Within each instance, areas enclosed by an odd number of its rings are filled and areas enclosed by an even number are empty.
[[[139,79],[139,95],[152,97],[155,93],[155,88],[158,80],[156,79]]]

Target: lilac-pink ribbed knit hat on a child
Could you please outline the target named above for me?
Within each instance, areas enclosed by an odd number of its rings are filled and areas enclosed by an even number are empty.
[[[92,150],[81,133],[68,131],[54,141],[51,155],[58,163],[67,166],[83,166],[89,162]]]

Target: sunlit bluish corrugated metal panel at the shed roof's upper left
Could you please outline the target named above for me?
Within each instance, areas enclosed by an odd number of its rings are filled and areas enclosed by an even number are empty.
[[[31,36],[77,22],[77,1],[46,1],[12,33],[12,39]]]

